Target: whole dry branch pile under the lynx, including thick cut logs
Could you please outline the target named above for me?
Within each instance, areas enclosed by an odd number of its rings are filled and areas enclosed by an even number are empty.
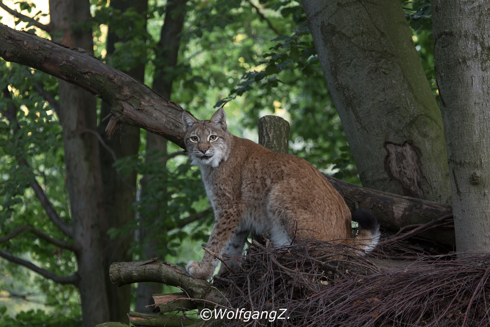
[[[430,255],[427,247],[424,251],[423,246],[406,242],[421,232],[452,224],[448,215],[407,226],[385,237],[364,258],[350,255],[346,245],[309,240],[274,248],[267,238],[264,244],[254,240],[241,258],[212,253],[241,265],[238,272],[214,277],[212,284],[189,277],[181,267],[154,260],[114,263],[111,280],[116,285],[156,281],[183,290],[153,296],[153,315],[131,312],[134,326],[489,326],[490,253],[458,259],[454,252]],[[386,258],[405,260],[393,267],[387,263],[395,261]],[[203,321],[192,315],[215,308],[244,309],[261,316],[276,311],[276,318],[280,309],[286,309],[282,317],[288,319],[247,319],[244,314],[242,319],[225,315]]]

